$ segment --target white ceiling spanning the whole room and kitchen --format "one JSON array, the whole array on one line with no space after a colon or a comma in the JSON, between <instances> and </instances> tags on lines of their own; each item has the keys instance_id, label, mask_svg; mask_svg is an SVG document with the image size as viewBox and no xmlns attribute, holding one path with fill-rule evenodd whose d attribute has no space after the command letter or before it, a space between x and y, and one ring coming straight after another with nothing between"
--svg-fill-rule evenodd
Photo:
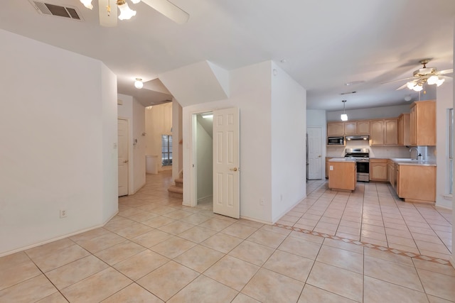
<instances>
[{"instance_id":1,"label":"white ceiling spanning the whole room and kitchen","mask_svg":"<svg viewBox=\"0 0 455 303\"><path fill-rule=\"evenodd\" d=\"M97 0L92 11L44 0L76 7L83 21L41 15L28 0L1 2L0 28L102 60L118 92L144 105L170 98L155 89L158 75L204 60L225 70L274 60L307 89L307 109L328 111L343 109L342 99L346 109L418 99L395 91L405 81L381 83L411 77L424 58L453 68L454 0L171 0L190 14L183 25L130 2L137 16L115 28L99 26ZM154 81L135 89L136 77ZM365 82L345 85L355 81Z\"/></svg>"}]
</instances>

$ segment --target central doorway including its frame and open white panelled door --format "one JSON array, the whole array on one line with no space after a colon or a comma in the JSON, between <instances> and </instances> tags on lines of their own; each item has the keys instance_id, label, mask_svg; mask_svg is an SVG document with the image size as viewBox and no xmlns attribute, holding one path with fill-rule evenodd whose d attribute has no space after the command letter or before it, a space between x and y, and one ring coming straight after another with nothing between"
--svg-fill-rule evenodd
<instances>
[{"instance_id":1,"label":"central doorway including its frame and open white panelled door","mask_svg":"<svg viewBox=\"0 0 455 303\"><path fill-rule=\"evenodd\" d=\"M211 119L211 140L200 133L201 119ZM203 120L202 120L203 121ZM208 120L207 120L208 121ZM238 108L217 109L211 113L196 113L192 116L191 134L191 206L198 204L202 180L206 178L211 187L213 212L240 218L240 112ZM205 123L205 122L203 122ZM208 124L208 123L207 123ZM209 130L210 132L210 130ZM202 144L204 143L204 145ZM199 146L198 146L199 145ZM210 146L211 145L211 146ZM202 146L202 147L201 147ZM212 151L210 154L210 150ZM208 156L210 155L210 157ZM211 163L209 163L209 160ZM211 166L210 166L211 165ZM207 179L205 179L207 180ZM206 186L203 184L202 186Z\"/></svg>"}]
</instances>

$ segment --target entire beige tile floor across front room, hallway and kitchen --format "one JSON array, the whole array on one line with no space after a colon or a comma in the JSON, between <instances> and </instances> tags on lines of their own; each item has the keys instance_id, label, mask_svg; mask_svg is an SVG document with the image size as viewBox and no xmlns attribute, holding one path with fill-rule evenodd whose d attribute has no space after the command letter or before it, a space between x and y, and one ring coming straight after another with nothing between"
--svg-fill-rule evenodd
<instances>
[{"instance_id":1,"label":"entire beige tile floor across front room, hallway and kitchen","mask_svg":"<svg viewBox=\"0 0 455 303\"><path fill-rule=\"evenodd\" d=\"M278 227L182 206L169 172L146 179L104 228L0 258L0 302L455 302L455 270L437 262L447 252L419 243L436 234L449 250L437 232L449 212L402 204L385 184L309 182Z\"/></svg>"}]
</instances>

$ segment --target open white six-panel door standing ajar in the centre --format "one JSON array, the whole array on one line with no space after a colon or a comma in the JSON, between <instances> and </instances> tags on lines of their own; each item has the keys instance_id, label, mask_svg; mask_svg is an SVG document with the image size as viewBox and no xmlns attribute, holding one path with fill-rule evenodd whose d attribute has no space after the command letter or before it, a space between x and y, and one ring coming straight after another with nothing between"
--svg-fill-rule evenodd
<instances>
[{"instance_id":1,"label":"open white six-panel door standing ajar in the centre","mask_svg":"<svg viewBox=\"0 0 455 303\"><path fill-rule=\"evenodd\" d=\"M213 111L213 212L240 218L239 109Z\"/></svg>"}]
</instances>

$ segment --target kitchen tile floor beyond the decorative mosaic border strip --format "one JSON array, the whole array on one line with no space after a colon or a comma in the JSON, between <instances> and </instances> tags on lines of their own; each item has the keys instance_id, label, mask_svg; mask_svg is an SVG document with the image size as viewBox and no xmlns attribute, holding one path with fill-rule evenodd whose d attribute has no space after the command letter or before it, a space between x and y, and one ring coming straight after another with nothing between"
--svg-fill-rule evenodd
<instances>
[{"instance_id":1,"label":"kitchen tile floor beyond the decorative mosaic border strip","mask_svg":"<svg viewBox=\"0 0 455 303\"><path fill-rule=\"evenodd\" d=\"M403 202L389 184L358 182L351 193L332 191L325 180L311 180L307 198L277 226L449 260L451 220L451 210Z\"/></svg>"}]
</instances>

